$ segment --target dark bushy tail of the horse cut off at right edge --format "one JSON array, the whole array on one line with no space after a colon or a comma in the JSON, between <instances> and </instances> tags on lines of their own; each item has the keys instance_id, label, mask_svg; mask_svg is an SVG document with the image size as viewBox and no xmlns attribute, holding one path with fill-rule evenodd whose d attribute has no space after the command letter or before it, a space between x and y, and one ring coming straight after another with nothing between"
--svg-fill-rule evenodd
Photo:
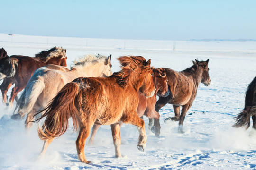
<instances>
[{"instance_id":1,"label":"dark bushy tail of the horse cut off at right edge","mask_svg":"<svg viewBox=\"0 0 256 170\"><path fill-rule=\"evenodd\" d=\"M245 127L246 129L250 127L250 117L256 115L256 107L247 106L241 113L238 114L234 119L236 123L233 127Z\"/></svg>"}]
</instances>

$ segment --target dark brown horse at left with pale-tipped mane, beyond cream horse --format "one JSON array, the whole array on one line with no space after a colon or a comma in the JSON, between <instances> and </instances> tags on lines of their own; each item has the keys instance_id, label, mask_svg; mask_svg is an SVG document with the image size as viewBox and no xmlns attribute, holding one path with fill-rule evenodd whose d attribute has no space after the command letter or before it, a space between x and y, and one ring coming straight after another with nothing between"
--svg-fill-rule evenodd
<instances>
[{"instance_id":1,"label":"dark brown horse at left with pale-tipped mane, beyond cream horse","mask_svg":"<svg viewBox=\"0 0 256 170\"><path fill-rule=\"evenodd\" d=\"M54 47L50 50L41 51L35 57L10 56L11 63L15 66L15 74L11 78L5 78L0 85L3 95L3 102L7 103L7 92L11 85L15 84L11 92L11 97L7 105L12 105L17 94L25 88L28 80L37 68L47 64L67 66L66 50L61 47Z\"/></svg>"}]
</instances>

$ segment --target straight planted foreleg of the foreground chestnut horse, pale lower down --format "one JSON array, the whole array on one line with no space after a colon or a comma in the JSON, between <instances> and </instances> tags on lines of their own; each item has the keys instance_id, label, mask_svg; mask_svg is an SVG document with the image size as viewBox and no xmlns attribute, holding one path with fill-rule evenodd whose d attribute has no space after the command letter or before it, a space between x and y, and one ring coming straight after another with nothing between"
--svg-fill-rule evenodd
<instances>
[{"instance_id":1,"label":"straight planted foreleg of the foreground chestnut horse, pale lower down","mask_svg":"<svg viewBox=\"0 0 256 170\"><path fill-rule=\"evenodd\" d=\"M121 122L111 125L111 131L112 131L113 143L115 146L116 158L122 157L121 150L120 150L120 144L121 144L120 128L121 128L121 125L122 125Z\"/></svg>"}]
</instances>

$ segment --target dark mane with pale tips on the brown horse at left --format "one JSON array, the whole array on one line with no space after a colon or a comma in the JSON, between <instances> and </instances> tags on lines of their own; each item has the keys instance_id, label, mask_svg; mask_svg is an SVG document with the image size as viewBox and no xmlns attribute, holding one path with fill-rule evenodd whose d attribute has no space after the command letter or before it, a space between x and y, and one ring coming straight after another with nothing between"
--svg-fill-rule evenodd
<instances>
[{"instance_id":1,"label":"dark mane with pale tips on the brown horse at left","mask_svg":"<svg viewBox=\"0 0 256 170\"><path fill-rule=\"evenodd\" d=\"M40 59L46 58L46 61L59 56L63 56L62 58L66 57L66 50L64 50L62 47L53 47L50 50L44 50L38 54L35 54L35 57L39 57Z\"/></svg>"}]
</instances>

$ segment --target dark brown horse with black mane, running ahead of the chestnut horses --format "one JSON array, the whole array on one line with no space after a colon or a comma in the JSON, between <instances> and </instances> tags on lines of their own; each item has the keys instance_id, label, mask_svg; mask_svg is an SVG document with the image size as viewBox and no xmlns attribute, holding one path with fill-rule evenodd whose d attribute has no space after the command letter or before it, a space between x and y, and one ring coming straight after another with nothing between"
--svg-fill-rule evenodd
<instances>
[{"instance_id":1,"label":"dark brown horse with black mane, running ahead of the chestnut horses","mask_svg":"<svg viewBox=\"0 0 256 170\"><path fill-rule=\"evenodd\" d=\"M172 118L166 118L165 122L168 120L179 121L179 133L184 133L183 131L183 121L187 111L192 106L192 102L196 98L196 93L198 86L203 83L206 86L210 85L210 76L208 68L209 59L206 61L192 61L193 65L183 71L177 72L170 68L164 68L167 78L170 94L167 97L159 97L159 100L155 104L155 111L159 110L165 106L167 103L172 104L174 108L175 116ZM182 111L180 115L180 107L182 106ZM152 132L156 135L160 135L160 131L155 131L160 125L159 119L149 119L149 124L153 124Z\"/></svg>"}]
</instances>

